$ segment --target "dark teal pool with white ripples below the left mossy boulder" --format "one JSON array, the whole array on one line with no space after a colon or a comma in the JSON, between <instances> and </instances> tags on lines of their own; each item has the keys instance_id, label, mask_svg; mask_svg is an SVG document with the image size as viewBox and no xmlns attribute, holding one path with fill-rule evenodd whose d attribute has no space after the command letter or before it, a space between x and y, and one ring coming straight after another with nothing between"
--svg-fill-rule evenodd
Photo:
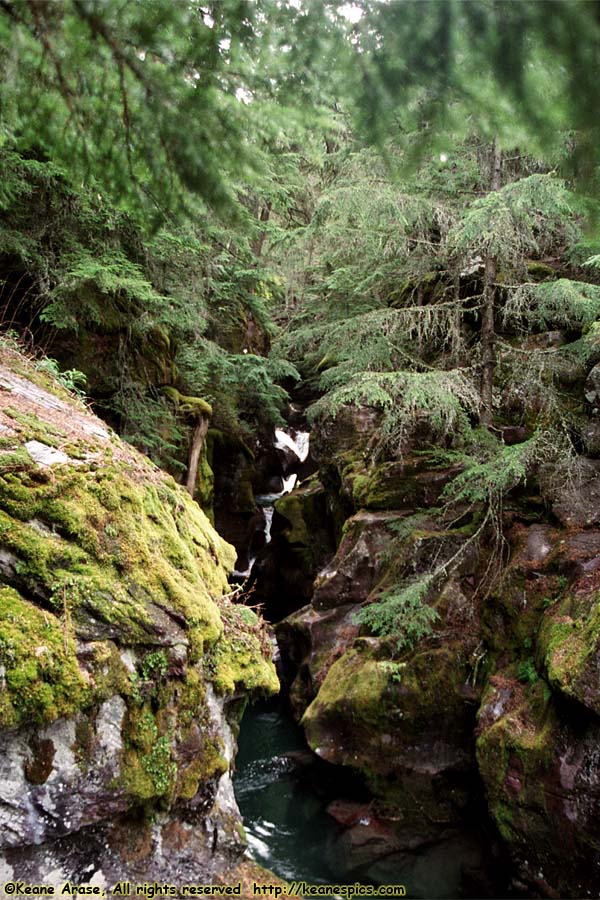
<instances>
[{"instance_id":1,"label":"dark teal pool with white ripples below the left mossy boulder","mask_svg":"<svg viewBox=\"0 0 600 900\"><path fill-rule=\"evenodd\" d=\"M328 768L309 755L302 731L281 701L246 711L235 795L252 858L281 878L312 884L339 880L331 857L341 829L325 811L336 796L335 785L324 776Z\"/></svg>"}]
</instances>

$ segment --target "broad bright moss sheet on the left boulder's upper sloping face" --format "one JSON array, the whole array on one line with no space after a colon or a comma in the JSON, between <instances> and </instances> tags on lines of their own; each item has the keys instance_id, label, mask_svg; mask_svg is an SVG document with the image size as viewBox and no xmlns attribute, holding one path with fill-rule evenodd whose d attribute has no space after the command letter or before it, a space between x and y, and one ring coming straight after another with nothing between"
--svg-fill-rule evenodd
<instances>
[{"instance_id":1,"label":"broad bright moss sheet on the left boulder's upper sloping face","mask_svg":"<svg viewBox=\"0 0 600 900\"><path fill-rule=\"evenodd\" d=\"M187 619L199 658L222 630L212 598L226 588L233 548L174 485L137 484L114 467L84 468L56 467L48 481L29 473L0 477L0 544L16 556L22 583L51 600L68 572L75 621L80 608L85 619L122 623L134 639L150 621L152 598ZM47 532L27 524L32 520Z\"/></svg>"}]
</instances>

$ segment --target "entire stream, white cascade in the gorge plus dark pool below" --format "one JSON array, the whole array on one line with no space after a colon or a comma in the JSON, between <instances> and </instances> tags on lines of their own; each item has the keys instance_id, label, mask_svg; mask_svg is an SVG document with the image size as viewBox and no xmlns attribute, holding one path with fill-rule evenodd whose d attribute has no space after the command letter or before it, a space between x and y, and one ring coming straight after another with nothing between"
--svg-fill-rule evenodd
<instances>
[{"instance_id":1,"label":"entire stream, white cascade in the gorge plus dark pool below","mask_svg":"<svg viewBox=\"0 0 600 900\"><path fill-rule=\"evenodd\" d=\"M262 510L257 530L265 545L271 539L273 505L294 488L293 470L308 454L308 434L291 436L278 429L275 446L291 451L292 461L284 468L282 490L255 496ZM234 576L251 577L259 552L249 553L247 569ZM282 696L246 710L233 783L248 854L280 878L405 884L406 896L430 900L508 896L503 861L477 810L443 840L413 835L399 843L392 823L373 817L360 777L311 753Z\"/></svg>"}]
</instances>

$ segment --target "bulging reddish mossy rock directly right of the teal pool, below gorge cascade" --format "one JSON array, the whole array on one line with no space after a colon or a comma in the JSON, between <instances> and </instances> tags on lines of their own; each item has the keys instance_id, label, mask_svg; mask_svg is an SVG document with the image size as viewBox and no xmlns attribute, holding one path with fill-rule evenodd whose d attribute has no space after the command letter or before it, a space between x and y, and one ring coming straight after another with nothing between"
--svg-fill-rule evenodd
<instances>
[{"instance_id":1,"label":"bulging reddish mossy rock directly right of the teal pool, below gorge cascade","mask_svg":"<svg viewBox=\"0 0 600 900\"><path fill-rule=\"evenodd\" d=\"M471 736L479 689L470 660L481 634L458 582L446 580L430 599L440 615L433 641L399 656L390 638L360 634L361 609L394 578L419 574L432 554L450 558L466 540L425 520L422 531L399 539L405 515L363 510L349 519L315 580L312 603L277 626L292 706L310 746L358 770L373 791L379 831L355 823L343 838L365 872L383 871L392 857L411 871L416 847L460 842L476 778ZM461 569L472 571L468 552Z\"/></svg>"}]
</instances>

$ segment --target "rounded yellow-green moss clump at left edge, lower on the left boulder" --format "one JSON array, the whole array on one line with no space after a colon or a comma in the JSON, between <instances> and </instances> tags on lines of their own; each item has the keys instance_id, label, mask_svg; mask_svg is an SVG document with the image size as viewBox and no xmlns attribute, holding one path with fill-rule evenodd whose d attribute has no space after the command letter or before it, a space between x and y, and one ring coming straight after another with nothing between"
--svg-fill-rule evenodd
<instances>
[{"instance_id":1,"label":"rounded yellow-green moss clump at left edge, lower on the left boulder","mask_svg":"<svg viewBox=\"0 0 600 900\"><path fill-rule=\"evenodd\" d=\"M68 623L0 587L0 724L50 722L89 705Z\"/></svg>"}]
</instances>

